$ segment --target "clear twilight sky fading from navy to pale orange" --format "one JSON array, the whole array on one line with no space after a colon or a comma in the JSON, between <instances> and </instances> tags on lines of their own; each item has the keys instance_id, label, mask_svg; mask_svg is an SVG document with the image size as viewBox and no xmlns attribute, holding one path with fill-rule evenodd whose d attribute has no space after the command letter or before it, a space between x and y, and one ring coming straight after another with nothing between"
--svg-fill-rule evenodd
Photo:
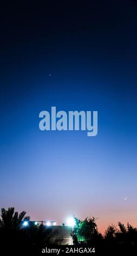
<instances>
[{"instance_id":1,"label":"clear twilight sky fading from navy to pale orange","mask_svg":"<svg viewBox=\"0 0 137 256\"><path fill-rule=\"evenodd\" d=\"M136 12L135 1L1 7L1 208L137 225ZM40 131L51 106L98 111L98 135Z\"/></svg>"}]
</instances>

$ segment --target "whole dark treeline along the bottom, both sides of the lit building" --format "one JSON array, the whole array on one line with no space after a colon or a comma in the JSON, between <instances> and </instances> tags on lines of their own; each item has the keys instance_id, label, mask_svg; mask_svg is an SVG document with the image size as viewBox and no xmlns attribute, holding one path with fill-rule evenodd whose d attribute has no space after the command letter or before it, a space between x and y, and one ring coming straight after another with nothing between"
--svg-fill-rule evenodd
<instances>
[{"instance_id":1,"label":"whole dark treeline along the bottom, both sides of the lit building","mask_svg":"<svg viewBox=\"0 0 137 256\"><path fill-rule=\"evenodd\" d=\"M0 219L0 254L8 253L33 253L41 254L42 248L57 247L57 241L53 240L55 233L51 228L43 224L34 225L26 212L15 212L14 208L1 209ZM75 218L75 226L72 229L74 247L95 247L95 252L103 255L136 255L137 253L137 228L129 223L125 226L121 222L117 226L109 225L101 234L94 217L81 221ZM28 227L24 227L24 221L29 221ZM53 242L54 241L54 242ZM20 253L20 254L19 254ZM5 255L1 254L1 255ZM10 255L9 254L9 255ZM96 254L95 254L96 255ZM101 254L100 254L101 255Z\"/></svg>"}]
</instances>

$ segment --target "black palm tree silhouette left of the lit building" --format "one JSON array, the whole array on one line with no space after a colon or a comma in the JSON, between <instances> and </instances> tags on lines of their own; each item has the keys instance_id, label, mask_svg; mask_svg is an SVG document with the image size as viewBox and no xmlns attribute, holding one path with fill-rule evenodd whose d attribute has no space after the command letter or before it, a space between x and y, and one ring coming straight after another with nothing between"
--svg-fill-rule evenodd
<instances>
[{"instance_id":1,"label":"black palm tree silhouette left of the lit building","mask_svg":"<svg viewBox=\"0 0 137 256\"><path fill-rule=\"evenodd\" d=\"M15 212L13 207L5 210L1 209L0 219L0 241L1 248L5 249L8 245L10 252L18 252L22 249L22 252L39 252L40 248L43 248L45 244L51 245L53 242L54 234L51 229L41 225L34 225L34 222L30 221L30 217L25 216L26 212L22 211L20 214ZM23 222L29 221L27 227L23 227Z\"/></svg>"}]
</instances>

